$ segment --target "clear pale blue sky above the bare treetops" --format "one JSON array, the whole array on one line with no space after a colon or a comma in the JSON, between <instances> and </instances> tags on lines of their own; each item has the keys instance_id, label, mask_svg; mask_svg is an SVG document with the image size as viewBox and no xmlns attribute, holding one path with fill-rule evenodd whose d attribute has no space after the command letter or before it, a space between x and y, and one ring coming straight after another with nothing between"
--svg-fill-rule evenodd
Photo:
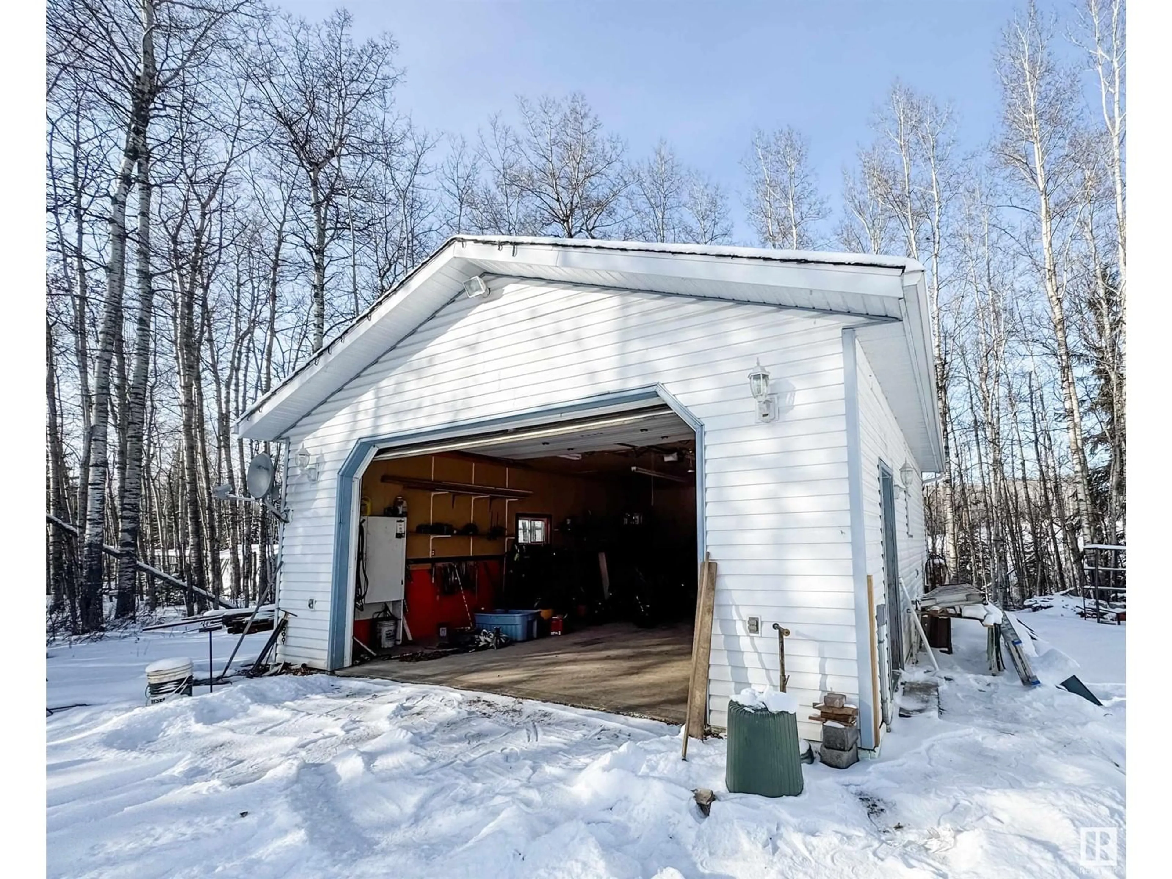
<instances>
[{"instance_id":1,"label":"clear pale blue sky above the bare treetops","mask_svg":"<svg viewBox=\"0 0 1172 879\"><path fill-rule=\"evenodd\" d=\"M356 0L359 35L390 32L407 70L398 104L429 129L463 132L515 96L585 93L632 154L660 137L723 183L741 222L738 162L755 127L796 125L819 184L838 206L840 170L870 139L868 117L898 76L952 101L961 136L979 148L994 130L993 49L1022 2L554 2ZM321 18L320 0L285 8ZM1040 4L1061 12L1061 0Z\"/></svg>"}]
</instances>

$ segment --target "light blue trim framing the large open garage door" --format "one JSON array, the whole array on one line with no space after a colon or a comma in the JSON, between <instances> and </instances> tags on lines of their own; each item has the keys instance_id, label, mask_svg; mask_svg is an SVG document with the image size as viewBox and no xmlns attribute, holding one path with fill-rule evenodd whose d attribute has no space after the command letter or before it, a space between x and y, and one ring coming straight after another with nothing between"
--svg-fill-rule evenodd
<instances>
[{"instance_id":1,"label":"light blue trim framing the large open garage door","mask_svg":"<svg viewBox=\"0 0 1172 879\"><path fill-rule=\"evenodd\" d=\"M441 428L429 430L404 431L401 434L381 434L359 440L350 454L346 456L338 471L338 491L334 502L334 564L332 566L332 585L329 600L329 646L327 649L327 668L334 672L346 666L346 648L349 641L349 587L350 559L353 558L353 531L359 513L360 483L362 472L380 448L387 445L407 445L457 437L471 437L477 434L490 434L495 430L520 427L525 423L534 425L568 420L587 413L613 409L638 409L639 403L661 401L668 406L696 434L696 550L699 561L704 557L704 425L662 384L652 384L631 390L600 394L553 407L525 409L511 415L482 418L465 422L452 422ZM422 452L421 452L422 454Z\"/></svg>"}]
</instances>

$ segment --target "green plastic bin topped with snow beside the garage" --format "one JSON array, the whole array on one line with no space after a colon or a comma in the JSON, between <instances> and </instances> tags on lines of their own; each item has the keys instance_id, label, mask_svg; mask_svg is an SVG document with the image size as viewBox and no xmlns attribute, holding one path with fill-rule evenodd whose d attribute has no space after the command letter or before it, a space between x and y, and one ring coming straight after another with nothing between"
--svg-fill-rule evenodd
<instances>
[{"instance_id":1,"label":"green plastic bin topped with snow beside the garage","mask_svg":"<svg viewBox=\"0 0 1172 879\"><path fill-rule=\"evenodd\" d=\"M796 797L803 790L798 700L747 688L729 700L724 785L731 793Z\"/></svg>"}]
</instances>

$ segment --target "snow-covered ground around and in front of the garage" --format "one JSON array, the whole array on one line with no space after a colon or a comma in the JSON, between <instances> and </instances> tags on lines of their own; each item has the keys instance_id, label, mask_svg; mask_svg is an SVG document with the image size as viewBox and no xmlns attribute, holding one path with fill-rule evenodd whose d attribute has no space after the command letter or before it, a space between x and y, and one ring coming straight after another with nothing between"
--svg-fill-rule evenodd
<instances>
[{"instance_id":1,"label":"snow-covered ground around and in front of the garage","mask_svg":"<svg viewBox=\"0 0 1172 879\"><path fill-rule=\"evenodd\" d=\"M327 675L146 708L143 667L206 662L206 636L54 646L49 707L89 707L47 720L48 874L1086 875L1078 829L1124 820L1126 626L1067 609L1020 619L1103 708L988 676L984 631L960 620L940 716L898 720L878 761L805 766L805 792L776 800L725 791L722 740L684 763L679 728L652 721ZM1122 856L1120 833L1117 870L1091 874L1122 875Z\"/></svg>"}]
</instances>

